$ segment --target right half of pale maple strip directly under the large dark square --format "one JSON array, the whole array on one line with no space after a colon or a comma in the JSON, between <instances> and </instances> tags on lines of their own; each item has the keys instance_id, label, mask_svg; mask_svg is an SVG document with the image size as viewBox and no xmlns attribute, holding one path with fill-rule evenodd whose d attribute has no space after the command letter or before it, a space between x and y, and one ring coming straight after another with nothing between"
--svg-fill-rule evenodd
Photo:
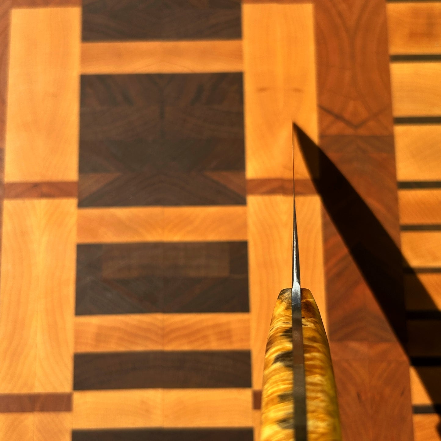
<instances>
[{"instance_id":1,"label":"right half of pale maple strip directly under the large dark square","mask_svg":"<svg viewBox=\"0 0 441 441\"><path fill-rule=\"evenodd\" d=\"M166 242L247 240L247 207L164 207L163 239Z\"/></svg>"}]
</instances>

